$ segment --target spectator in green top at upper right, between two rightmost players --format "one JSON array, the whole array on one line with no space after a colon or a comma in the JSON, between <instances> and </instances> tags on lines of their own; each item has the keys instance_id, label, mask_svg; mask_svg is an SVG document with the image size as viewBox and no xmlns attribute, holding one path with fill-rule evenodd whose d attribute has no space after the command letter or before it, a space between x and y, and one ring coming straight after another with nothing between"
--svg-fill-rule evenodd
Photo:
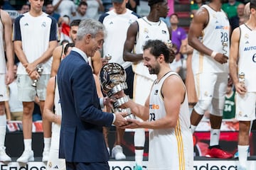
<instances>
[{"instance_id":1,"label":"spectator in green top at upper right, between two rightmost players","mask_svg":"<svg viewBox=\"0 0 256 170\"><path fill-rule=\"evenodd\" d=\"M238 15L237 8L239 4L241 4L240 1L228 0L228 2L224 3L221 8L227 13L228 18L230 19L231 17Z\"/></svg>"}]
</instances>

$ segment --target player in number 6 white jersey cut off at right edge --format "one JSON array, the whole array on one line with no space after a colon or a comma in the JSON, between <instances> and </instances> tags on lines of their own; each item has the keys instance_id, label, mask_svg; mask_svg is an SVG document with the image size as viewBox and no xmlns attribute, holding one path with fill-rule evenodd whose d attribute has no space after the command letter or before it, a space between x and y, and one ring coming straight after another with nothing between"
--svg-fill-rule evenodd
<instances>
[{"instance_id":1,"label":"player in number 6 white jersey cut off at right edge","mask_svg":"<svg viewBox=\"0 0 256 170\"><path fill-rule=\"evenodd\" d=\"M230 46L230 76L236 90L235 118L239 120L238 170L247 167L247 152L250 145L250 128L255 120L256 103L256 0L250 1L250 18L235 28ZM245 74L244 81L238 77Z\"/></svg>"}]
</instances>

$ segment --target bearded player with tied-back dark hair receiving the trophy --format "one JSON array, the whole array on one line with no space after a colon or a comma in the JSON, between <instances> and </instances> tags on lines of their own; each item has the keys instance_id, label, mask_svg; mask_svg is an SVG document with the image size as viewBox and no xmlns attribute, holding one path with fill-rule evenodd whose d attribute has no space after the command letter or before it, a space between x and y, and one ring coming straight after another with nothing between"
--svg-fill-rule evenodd
<instances>
[{"instance_id":1,"label":"bearded player with tied-back dark hair receiving the trophy","mask_svg":"<svg viewBox=\"0 0 256 170\"><path fill-rule=\"evenodd\" d=\"M144 105L129 100L125 108L144 121L128 119L124 128L149 129L149 162L147 169L193 169L193 139L186 87L169 62L174 52L161 40L148 40L143 47L144 65L156 80ZM120 93L117 98L124 96ZM147 121L149 120L149 121Z\"/></svg>"}]
</instances>

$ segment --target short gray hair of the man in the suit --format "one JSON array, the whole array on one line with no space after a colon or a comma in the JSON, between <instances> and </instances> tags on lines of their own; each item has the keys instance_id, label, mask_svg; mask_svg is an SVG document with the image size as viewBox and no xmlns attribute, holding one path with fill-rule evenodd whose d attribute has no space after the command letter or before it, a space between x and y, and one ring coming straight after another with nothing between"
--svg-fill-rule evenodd
<instances>
[{"instance_id":1,"label":"short gray hair of the man in the suit","mask_svg":"<svg viewBox=\"0 0 256 170\"><path fill-rule=\"evenodd\" d=\"M106 35L105 26L103 26L102 23L93 19L82 20L78 26L77 39L82 40L87 34L90 34L92 35L92 38L95 38L97 33L100 32Z\"/></svg>"}]
</instances>

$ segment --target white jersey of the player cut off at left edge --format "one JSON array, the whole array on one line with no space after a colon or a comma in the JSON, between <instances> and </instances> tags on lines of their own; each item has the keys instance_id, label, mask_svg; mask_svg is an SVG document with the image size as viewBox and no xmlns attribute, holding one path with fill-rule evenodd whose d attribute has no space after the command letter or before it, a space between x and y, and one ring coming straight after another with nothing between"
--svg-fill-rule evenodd
<instances>
[{"instance_id":1,"label":"white jersey of the player cut off at left edge","mask_svg":"<svg viewBox=\"0 0 256 170\"><path fill-rule=\"evenodd\" d=\"M4 26L0 19L0 74L1 73L6 73L6 60L4 55Z\"/></svg>"}]
</instances>

